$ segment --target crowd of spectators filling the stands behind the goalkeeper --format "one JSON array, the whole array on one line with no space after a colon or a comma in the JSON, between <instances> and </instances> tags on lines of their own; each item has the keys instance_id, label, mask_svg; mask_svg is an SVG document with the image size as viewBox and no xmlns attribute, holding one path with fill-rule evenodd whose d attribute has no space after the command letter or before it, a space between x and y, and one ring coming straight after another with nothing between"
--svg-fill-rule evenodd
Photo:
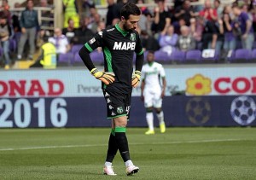
<instances>
[{"instance_id":1,"label":"crowd of spectators filling the stands behind the goalkeeper","mask_svg":"<svg viewBox=\"0 0 256 180\"><path fill-rule=\"evenodd\" d=\"M143 13L137 31L145 51L161 50L171 55L175 50L214 49L225 57L231 50L254 48L255 0L236 0L228 5L219 0L205 0L199 5L191 5L197 0L173 0L173 6L166 5L165 0L155 0L154 8L144 6L143 0L131 1L137 3ZM53 26L53 22L43 20L39 25L37 11L33 9L34 6L49 7L52 2L41 0L40 4L34 4L28 0L21 15L9 11L7 0L2 2L0 66L9 69L12 61L33 60L35 51L45 43L45 36L55 45L57 55L69 52L74 44L84 44L96 32L119 21L119 10L127 0L107 0L107 15L104 17L92 0L83 0L80 8L79 0L62 0L63 28L55 27L53 32L40 28ZM15 3L15 8L19 7L20 4ZM43 12L43 15L53 17L50 11ZM15 55L11 57L9 39L15 39L17 44Z\"/></svg>"}]
</instances>

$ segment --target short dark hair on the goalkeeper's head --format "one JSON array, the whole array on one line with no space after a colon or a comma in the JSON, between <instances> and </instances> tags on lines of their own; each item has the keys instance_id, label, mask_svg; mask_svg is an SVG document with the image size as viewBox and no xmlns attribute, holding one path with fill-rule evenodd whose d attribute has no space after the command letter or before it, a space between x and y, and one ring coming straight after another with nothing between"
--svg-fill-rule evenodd
<instances>
[{"instance_id":1,"label":"short dark hair on the goalkeeper's head","mask_svg":"<svg viewBox=\"0 0 256 180\"><path fill-rule=\"evenodd\" d=\"M129 19L130 15L141 15L141 10L137 7L135 3L125 3L120 11L120 15L124 16L125 20Z\"/></svg>"}]
</instances>

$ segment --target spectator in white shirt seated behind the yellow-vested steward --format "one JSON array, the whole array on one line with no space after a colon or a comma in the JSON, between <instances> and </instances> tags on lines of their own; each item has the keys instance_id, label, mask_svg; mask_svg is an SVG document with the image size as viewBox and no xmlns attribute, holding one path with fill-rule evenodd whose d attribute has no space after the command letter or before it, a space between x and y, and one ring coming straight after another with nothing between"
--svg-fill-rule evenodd
<instances>
[{"instance_id":1,"label":"spectator in white shirt seated behind the yellow-vested steward","mask_svg":"<svg viewBox=\"0 0 256 180\"><path fill-rule=\"evenodd\" d=\"M61 28L58 27L55 28L54 37L49 38L49 43L55 45L57 55L66 54L71 49L67 37L64 34L62 34Z\"/></svg>"}]
</instances>

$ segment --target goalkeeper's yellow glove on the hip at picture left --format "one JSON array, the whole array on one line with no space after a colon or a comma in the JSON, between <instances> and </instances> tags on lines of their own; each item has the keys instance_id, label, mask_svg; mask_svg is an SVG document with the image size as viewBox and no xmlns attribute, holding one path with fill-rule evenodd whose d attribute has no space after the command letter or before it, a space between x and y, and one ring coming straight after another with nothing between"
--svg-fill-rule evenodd
<instances>
[{"instance_id":1,"label":"goalkeeper's yellow glove on the hip at picture left","mask_svg":"<svg viewBox=\"0 0 256 180\"><path fill-rule=\"evenodd\" d=\"M93 68L90 71L91 75L95 78L101 80L104 84L112 84L114 81L114 73L113 72L99 72L96 68Z\"/></svg>"}]
</instances>

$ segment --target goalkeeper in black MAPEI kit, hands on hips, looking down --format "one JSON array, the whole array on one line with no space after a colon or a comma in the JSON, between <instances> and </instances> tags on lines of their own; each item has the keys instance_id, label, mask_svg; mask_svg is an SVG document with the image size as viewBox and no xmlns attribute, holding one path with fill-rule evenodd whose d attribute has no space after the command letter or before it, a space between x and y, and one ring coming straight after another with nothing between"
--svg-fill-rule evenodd
<instances>
[{"instance_id":1,"label":"goalkeeper in black MAPEI kit, hands on hips, looking down","mask_svg":"<svg viewBox=\"0 0 256 180\"><path fill-rule=\"evenodd\" d=\"M103 173L116 175L113 171L113 158L117 151L124 160L126 174L139 171L133 165L126 138L126 125L131 108L131 91L137 87L143 67L143 46L137 31L141 11L134 3L126 3L120 11L120 20L115 26L98 32L79 50L84 65L95 78L102 81L102 91L107 102L108 119L112 130L108 140L108 152ZM104 70L96 69L90 59L90 52L102 47ZM136 55L133 73L133 55Z\"/></svg>"}]
</instances>

